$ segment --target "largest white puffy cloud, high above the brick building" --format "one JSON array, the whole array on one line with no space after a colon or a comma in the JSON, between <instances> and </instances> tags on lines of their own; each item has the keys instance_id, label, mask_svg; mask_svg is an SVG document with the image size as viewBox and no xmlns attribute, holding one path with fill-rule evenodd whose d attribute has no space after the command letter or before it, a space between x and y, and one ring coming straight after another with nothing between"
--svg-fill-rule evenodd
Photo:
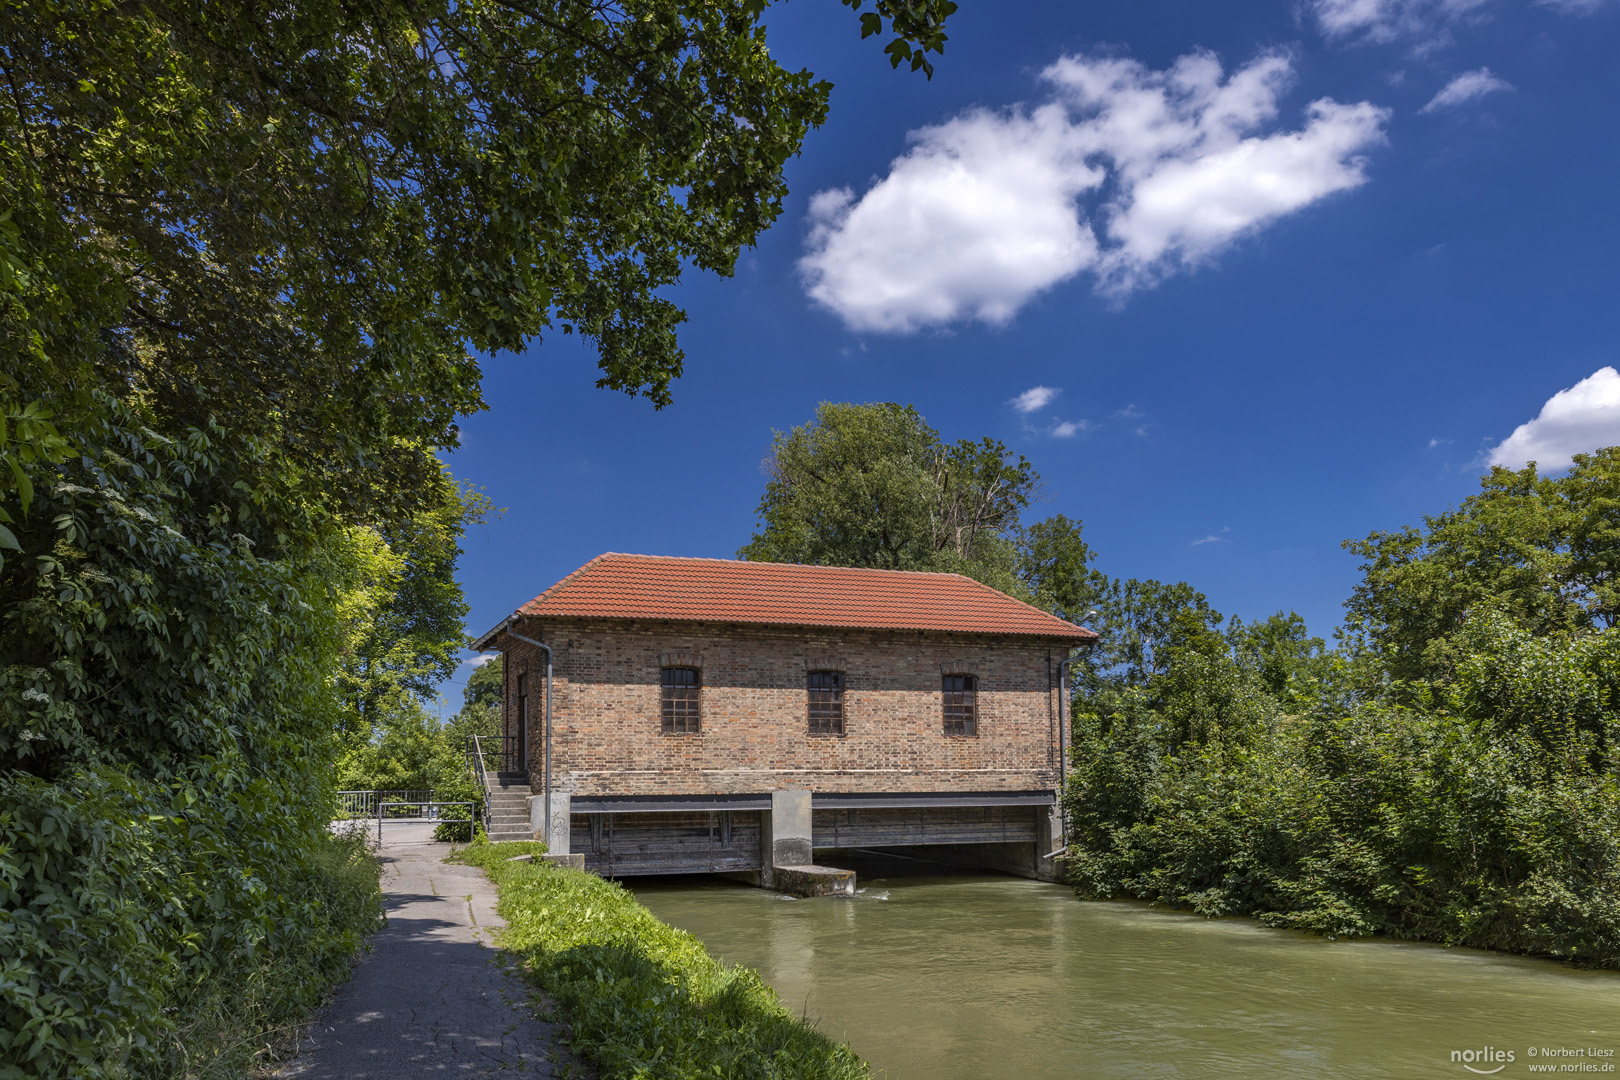
<instances>
[{"instance_id":1,"label":"largest white puffy cloud, high above the brick building","mask_svg":"<svg viewBox=\"0 0 1620 1080\"><path fill-rule=\"evenodd\" d=\"M1388 112L1322 99L1275 130L1288 55L1230 76L1209 52L1165 71L1063 57L1051 100L974 110L910 134L889 173L810 202L810 296L854 330L1004 324L1084 270L1123 298L1366 180Z\"/></svg>"}]
</instances>

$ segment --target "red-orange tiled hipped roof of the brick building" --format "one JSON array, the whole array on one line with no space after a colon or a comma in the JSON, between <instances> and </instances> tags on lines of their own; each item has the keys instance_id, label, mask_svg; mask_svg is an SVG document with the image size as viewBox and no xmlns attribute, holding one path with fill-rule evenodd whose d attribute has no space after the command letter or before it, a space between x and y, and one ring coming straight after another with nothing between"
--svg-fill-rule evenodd
<instances>
[{"instance_id":1,"label":"red-orange tiled hipped roof of the brick building","mask_svg":"<svg viewBox=\"0 0 1620 1080\"><path fill-rule=\"evenodd\" d=\"M591 559L518 614L1097 636L959 573L616 552Z\"/></svg>"}]
</instances>

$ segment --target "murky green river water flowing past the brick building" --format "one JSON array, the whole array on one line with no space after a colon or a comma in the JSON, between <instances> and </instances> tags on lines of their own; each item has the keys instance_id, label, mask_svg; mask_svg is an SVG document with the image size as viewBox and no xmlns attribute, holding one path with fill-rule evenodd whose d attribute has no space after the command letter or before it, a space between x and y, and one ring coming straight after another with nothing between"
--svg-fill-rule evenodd
<instances>
[{"instance_id":1,"label":"murky green river water flowing past the brick building","mask_svg":"<svg viewBox=\"0 0 1620 1080\"><path fill-rule=\"evenodd\" d=\"M1452 1051L1486 1046L1515 1056L1498 1077L1547 1075L1531 1065L1549 1061L1584 1062L1554 1075L1620 1077L1617 973L893 868L854 899L629 884L891 1080L1468 1077ZM1545 1057L1557 1048L1617 1056Z\"/></svg>"}]
</instances>

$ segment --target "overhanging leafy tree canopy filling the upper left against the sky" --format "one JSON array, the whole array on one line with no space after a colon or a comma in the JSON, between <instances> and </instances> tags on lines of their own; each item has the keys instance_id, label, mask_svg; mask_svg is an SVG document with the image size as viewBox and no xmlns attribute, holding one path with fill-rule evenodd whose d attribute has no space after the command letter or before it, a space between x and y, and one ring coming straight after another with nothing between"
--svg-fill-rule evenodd
<instances>
[{"instance_id":1,"label":"overhanging leafy tree canopy filling the upper left against the sky","mask_svg":"<svg viewBox=\"0 0 1620 1080\"><path fill-rule=\"evenodd\" d=\"M731 274L826 115L765 6L6 5L6 282L63 374L180 423L228 408L311 474L431 471L480 405L473 356L559 325L599 385L667 403L663 293ZM880 0L891 60L932 71L953 8ZM115 325L138 358L102 355Z\"/></svg>"}]
</instances>

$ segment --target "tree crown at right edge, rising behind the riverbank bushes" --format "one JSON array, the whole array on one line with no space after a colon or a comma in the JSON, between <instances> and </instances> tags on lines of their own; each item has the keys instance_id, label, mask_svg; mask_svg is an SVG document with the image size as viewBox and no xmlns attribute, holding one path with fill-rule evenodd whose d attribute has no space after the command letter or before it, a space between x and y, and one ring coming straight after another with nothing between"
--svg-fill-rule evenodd
<instances>
[{"instance_id":1,"label":"tree crown at right edge, rising behind the riverbank bushes","mask_svg":"<svg viewBox=\"0 0 1620 1080\"><path fill-rule=\"evenodd\" d=\"M1533 633L1620 622L1620 447L1581 453L1567 476L1494 468L1422 528L1345 541L1362 580L1346 635L1396 682L1445 682L1453 635L1482 602Z\"/></svg>"}]
</instances>

